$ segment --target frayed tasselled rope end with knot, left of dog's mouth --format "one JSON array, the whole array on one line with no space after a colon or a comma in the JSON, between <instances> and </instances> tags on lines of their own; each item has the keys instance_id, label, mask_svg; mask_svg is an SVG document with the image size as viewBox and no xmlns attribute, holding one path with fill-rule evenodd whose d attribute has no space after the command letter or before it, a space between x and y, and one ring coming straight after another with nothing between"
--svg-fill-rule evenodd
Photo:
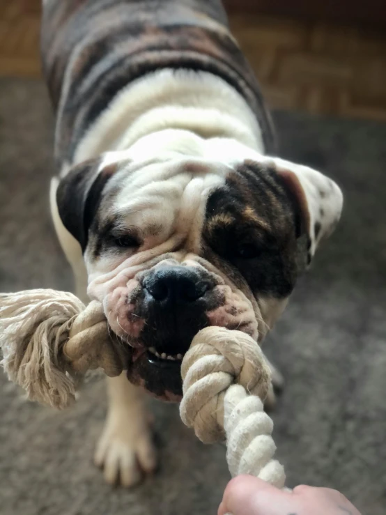
<instances>
[{"instance_id":1,"label":"frayed tasselled rope end with knot, left of dog's mouth","mask_svg":"<svg viewBox=\"0 0 386 515\"><path fill-rule=\"evenodd\" d=\"M88 369L121 374L99 302L87 307L72 293L29 290L0 294L0 348L8 378L28 399L63 409L75 401Z\"/></svg>"}]
</instances>

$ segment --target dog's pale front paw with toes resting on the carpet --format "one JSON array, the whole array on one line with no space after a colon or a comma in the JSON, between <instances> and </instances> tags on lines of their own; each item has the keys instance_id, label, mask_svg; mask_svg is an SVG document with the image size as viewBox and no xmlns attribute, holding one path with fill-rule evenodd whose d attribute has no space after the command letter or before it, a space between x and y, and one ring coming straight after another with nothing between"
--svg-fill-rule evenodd
<instances>
[{"instance_id":1,"label":"dog's pale front paw with toes resting on the carpet","mask_svg":"<svg viewBox=\"0 0 386 515\"><path fill-rule=\"evenodd\" d=\"M154 472L157 455L146 422L137 424L109 416L95 449L95 465L103 468L107 483L129 488Z\"/></svg>"}]
</instances>

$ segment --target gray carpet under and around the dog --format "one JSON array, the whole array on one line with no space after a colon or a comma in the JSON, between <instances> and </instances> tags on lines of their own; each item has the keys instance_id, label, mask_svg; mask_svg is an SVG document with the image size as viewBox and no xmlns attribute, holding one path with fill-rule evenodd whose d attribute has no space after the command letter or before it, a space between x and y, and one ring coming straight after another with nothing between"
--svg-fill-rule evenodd
<instances>
[{"instance_id":1,"label":"gray carpet under and around the dog","mask_svg":"<svg viewBox=\"0 0 386 515\"><path fill-rule=\"evenodd\" d=\"M286 376L273 414L288 484L331 486L386 513L386 125L277 113L283 155L343 187L339 229L267 341ZM0 82L0 291L70 288L49 221L52 116L42 84ZM25 403L0 374L1 515L215 514L224 449L201 445L176 406L154 403L161 468L132 491L91 463L102 384L65 413ZM310 514L311 515L311 514ZM327 514L326 514L327 515Z\"/></svg>"}]
</instances>

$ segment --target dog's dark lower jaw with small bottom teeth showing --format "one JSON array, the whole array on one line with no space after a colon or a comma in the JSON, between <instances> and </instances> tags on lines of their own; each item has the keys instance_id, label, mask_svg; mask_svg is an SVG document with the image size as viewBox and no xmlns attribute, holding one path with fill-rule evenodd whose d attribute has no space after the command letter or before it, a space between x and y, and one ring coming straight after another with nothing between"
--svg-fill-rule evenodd
<instances>
[{"instance_id":1,"label":"dog's dark lower jaw with small bottom teeth showing","mask_svg":"<svg viewBox=\"0 0 386 515\"><path fill-rule=\"evenodd\" d=\"M154 347L134 348L128 360L128 380L157 399L179 402L183 396L183 356L182 353L160 353Z\"/></svg>"}]
</instances>

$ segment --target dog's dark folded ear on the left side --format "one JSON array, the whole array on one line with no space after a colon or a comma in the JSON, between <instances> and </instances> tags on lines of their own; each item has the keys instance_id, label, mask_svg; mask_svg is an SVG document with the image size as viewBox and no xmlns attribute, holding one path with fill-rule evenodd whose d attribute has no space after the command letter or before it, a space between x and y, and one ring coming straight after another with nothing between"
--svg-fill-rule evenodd
<instances>
[{"instance_id":1,"label":"dog's dark folded ear on the left side","mask_svg":"<svg viewBox=\"0 0 386 515\"><path fill-rule=\"evenodd\" d=\"M103 189L117 169L116 164L102 164L100 157L84 161L70 169L56 190L61 221L85 251L88 229L102 199Z\"/></svg>"}]
</instances>

